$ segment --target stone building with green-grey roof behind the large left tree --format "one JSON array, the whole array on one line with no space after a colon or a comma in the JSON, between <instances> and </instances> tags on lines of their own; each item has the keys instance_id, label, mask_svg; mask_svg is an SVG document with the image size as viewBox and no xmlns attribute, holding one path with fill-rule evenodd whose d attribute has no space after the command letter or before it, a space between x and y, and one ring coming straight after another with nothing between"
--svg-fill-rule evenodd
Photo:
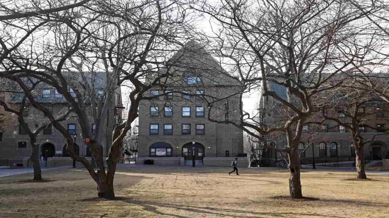
<instances>
[{"instance_id":1,"label":"stone building with green-grey roof behind the large left tree","mask_svg":"<svg viewBox=\"0 0 389 218\"><path fill-rule=\"evenodd\" d=\"M97 95L102 94L105 89L105 78L104 73L97 73L97 78L95 80ZM70 94L75 97L75 93L72 92L71 88ZM54 116L63 114L69 107L66 99L64 99L60 93L56 92L53 87L41 85L37 88L37 93L35 95L36 100L41 104L44 104L45 107L52 111ZM19 110L23 95L5 92L0 93L0 98L4 99L8 106L12 109ZM88 98L85 98L84 102L88 103ZM105 129L103 129L101 143L104 149L103 154L105 156L108 155L108 146L112 142L112 130L116 125L117 119L120 119L119 117L121 116L122 107L121 91L120 87L118 87L116 89L116 99L114 100L112 107L109 108L109 116L105 121ZM32 146L29 143L30 138L19 125L18 117L15 114L6 112L3 107L0 107L0 116L2 116L0 123L0 159L3 159L3 162L4 159L9 159L12 163L22 163L23 159L30 157L32 154ZM44 116L43 112L40 112L33 106L26 107L23 112L23 116L32 131L35 131L38 127L44 124L50 123ZM91 156L89 149L87 149L86 144L82 141L77 116L71 113L68 119L61 122L61 124L68 129L68 132L71 135L74 135L76 152L81 156ZM94 128L93 124L91 126ZM40 156L48 158L68 157L65 149L65 138L58 130L52 128L51 125L39 133L37 136L37 143L39 143ZM68 157L68 159L70 160L70 157ZM71 163L71 161L67 161L67 163Z\"/></svg>"}]
</instances>

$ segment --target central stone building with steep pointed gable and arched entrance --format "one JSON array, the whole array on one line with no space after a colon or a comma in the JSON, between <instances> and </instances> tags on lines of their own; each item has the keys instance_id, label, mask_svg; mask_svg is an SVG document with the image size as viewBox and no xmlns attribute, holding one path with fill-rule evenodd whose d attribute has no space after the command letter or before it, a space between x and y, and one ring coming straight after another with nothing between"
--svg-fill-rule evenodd
<instances>
[{"instance_id":1,"label":"central stone building with steep pointed gable and arched entrance","mask_svg":"<svg viewBox=\"0 0 389 218\"><path fill-rule=\"evenodd\" d=\"M155 164L230 165L231 157L242 157L243 133L237 127L208 119L204 99L237 92L238 83L198 43L191 41L170 60L175 75L166 88L154 88L139 107L137 163L154 159ZM223 72L223 73L221 73ZM153 75L149 75L151 81ZM221 103L223 119L238 119L237 102ZM194 151L194 152L193 152Z\"/></svg>"}]
</instances>

